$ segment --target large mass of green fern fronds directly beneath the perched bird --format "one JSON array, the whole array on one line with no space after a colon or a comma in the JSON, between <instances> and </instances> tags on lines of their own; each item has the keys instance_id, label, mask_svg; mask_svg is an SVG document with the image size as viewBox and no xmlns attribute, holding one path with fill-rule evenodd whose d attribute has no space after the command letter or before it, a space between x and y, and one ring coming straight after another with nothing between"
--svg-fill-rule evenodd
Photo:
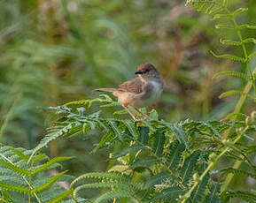
<instances>
[{"instance_id":1,"label":"large mass of green fern fronds directly beneath the perched bird","mask_svg":"<svg viewBox=\"0 0 256 203\"><path fill-rule=\"evenodd\" d=\"M101 108L112 106L112 100L105 95L92 100L91 104L96 101ZM156 119L135 122L101 117L99 111L90 112L92 105L88 103L83 110L81 102L50 108L59 115L49 129L50 136L58 139L99 130L103 135L93 152L107 147L110 153L112 164L107 172L87 173L74 180L71 184L74 200L84 198L81 191L100 188L102 194L91 201L185 202L190 199L192 202L221 202L221 184L210 178L210 171L221 156L231 160L242 156L244 164L252 171L223 169L219 172L221 178L238 172L256 176L248 157L255 146L248 147L240 141L250 138L256 131L253 115L229 122L186 120L172 124ZM232 133L227 140L222 139L229 131ZM50 136L35 147L33 154L47 146ZM218 147L211 147L214 145ZM115 151L115 147L121 149Z\"/></svg>"}]
</instances>

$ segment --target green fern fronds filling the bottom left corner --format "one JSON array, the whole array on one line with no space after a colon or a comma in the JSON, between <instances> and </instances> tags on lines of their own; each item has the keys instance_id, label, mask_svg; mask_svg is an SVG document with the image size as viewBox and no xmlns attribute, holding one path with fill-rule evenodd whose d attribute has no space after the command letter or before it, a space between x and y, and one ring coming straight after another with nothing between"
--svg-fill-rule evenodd
<instances>
[{"instance_id":1,"label":"green fern fronds filling the bottom left corner","mask_svg":"<svg viewBox=\"0 0 256 203\"><path fill-rule=\"evenodd\" d=\"M71 181L66 171L56 176L45 173L58 169L59 162L73 157L57 157L47 161L45 154L36 154L29 160L31 150L0 147L0 188L2 198L8 202L59 202L66 199L70 191L58 185L58 181ZM44 162L44 163L43 163ZM8 195L7 195L8 194Z\"/></svg>"}]
</instances>

